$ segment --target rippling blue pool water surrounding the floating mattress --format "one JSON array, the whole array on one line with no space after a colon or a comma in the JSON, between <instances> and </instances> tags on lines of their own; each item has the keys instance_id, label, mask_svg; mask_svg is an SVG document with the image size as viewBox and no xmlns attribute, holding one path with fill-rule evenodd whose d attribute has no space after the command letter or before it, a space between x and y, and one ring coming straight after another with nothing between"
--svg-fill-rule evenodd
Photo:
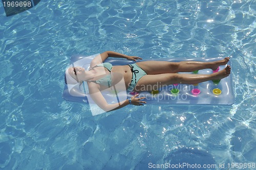
<instances>
[{"instance_id":1,"label":"rippling blue pool water surrounding the floating mattress","mask_svg":"<svg viewBox=\"0 0 256 170\"><path fill-rule=\"evenodd\" d=\"M6 17L1 3L0 169L255 169L255 11L252 0L44 0ZM107 50L145 59L228 56L236 102L92 116L89 105L62 99L63 75L72 55Z\"/></svg>"}]
</instances>

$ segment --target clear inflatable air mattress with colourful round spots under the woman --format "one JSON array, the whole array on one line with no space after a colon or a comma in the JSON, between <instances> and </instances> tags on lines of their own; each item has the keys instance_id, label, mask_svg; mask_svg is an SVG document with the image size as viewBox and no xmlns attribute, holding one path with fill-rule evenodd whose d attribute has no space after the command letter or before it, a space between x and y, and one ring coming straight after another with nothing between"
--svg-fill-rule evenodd
<instances>
[{"instance_id":1,"label":"clear inflatable air mattress with colourful round spots under the woman","mask_svg":"<svg viewBox=\"0 0 256 170\"><path fill-rule=\"evenodd\" d=\"M92 59L97 56L81 56L76 55L71 57L71 65L80 66L89 69L90 63ZM222 58L211 58L211 59L155 59L160 61L216 61ZM143 59L141 61L148 61L147 59ZM134 61L126 60L126 59L107 59L105 62L110 62L115 65L126 65L132 64ZM231 66L231 62L229 61L227 65ZM226 65L220 66L220 70L224 69ZM185 72L190 74L211 74L211 69L203 69L194 72ZM182 73L179 73L182 74ZM136 92L126 92L125 94L120 94L115 97L114 93L106 94L105 98L108 103L115 103L116 101L126 100L127 98L131 98L131 96L135 95ZM76 85L67 85L65 84L65 88L63 90L63 98L67 101L73 102L81 102L81 103L90 103L88 96L89 90L86 82L82 84ZM114 96L114 98L113 98ZM139 93L138 97L145 97L144 101L147 104L209 104L209 105L232 105L234 103L234 92L232 85L232 76L231 74L222 79L220 82L218 81L207 81L195 85L187 85L187 84L172 84L169 86L165 86L161 89L155 91L143 91ZM119 98L116 100L116 98ZM115 99L115 100L113 100Z\"/></svg>"}]
</instances>

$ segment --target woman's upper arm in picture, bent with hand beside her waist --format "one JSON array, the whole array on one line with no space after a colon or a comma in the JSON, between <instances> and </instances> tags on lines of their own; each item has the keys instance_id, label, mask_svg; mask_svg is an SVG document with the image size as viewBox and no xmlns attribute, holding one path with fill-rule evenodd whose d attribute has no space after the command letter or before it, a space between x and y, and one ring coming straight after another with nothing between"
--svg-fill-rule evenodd
<instances>
[{"instance_id":1,"label":"woman's upper arm in picture, bent with hand beside her waist","mask_svg":"<svg viewBox=\"0 0 256 170\"><path fill-rule=\"evenodd\" d=\"M113 51L106 51L106 52L101 53L100 55L96 56L92 60L91 67L93 67L97 64L103 63L109 57L124 58L124 59L128 59L128 60L133 60L133 61L137 61L136 59L142 59L142 58L136 57L136 56L127 56L125 54L121 54L121 53L117 53L117 52L113 52Z\"/></svg>"}]
</instances>

